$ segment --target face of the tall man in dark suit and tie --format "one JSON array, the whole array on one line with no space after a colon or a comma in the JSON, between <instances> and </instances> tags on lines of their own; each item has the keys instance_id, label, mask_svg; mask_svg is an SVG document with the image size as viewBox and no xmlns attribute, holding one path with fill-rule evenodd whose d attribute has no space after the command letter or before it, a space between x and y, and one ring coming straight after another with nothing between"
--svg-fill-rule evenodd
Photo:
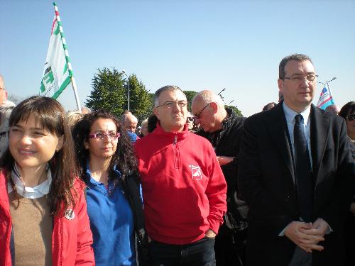
<instances>
[{"instance_id":1,"label":"face of the tall man in dark suit and tie","mask_svg":"<svg viewBox=\"0 0 355 266\"><path fill-rule=\"evenodd\" d=\"M308 60L290 60L285 65L285 77L305 77L315 74L315 67ZM304 111L310 106L317 87L317 79L308 81L306 78L299 79L278 79L278 87L283 94L285 104L294 111Z\"/></svg>"}]
</instances>

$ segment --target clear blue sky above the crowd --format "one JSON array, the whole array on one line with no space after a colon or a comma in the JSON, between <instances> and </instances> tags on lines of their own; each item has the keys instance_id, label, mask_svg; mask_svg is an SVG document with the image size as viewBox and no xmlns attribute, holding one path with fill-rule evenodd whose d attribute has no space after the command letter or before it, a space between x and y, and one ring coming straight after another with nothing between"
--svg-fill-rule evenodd
<instances>
[{"instance_id":1,"label":"clear blue sky above the crowd","mask_svg":"<svg viewBox=\"0 0 355 266\"><path fill-rule=\"evenodd\" d=\"M82 104L97 68L134 73L147 89L210 89L250 116L278 101L278 64L312 57L339 106L355 100L355 1L56 1ZM52 1L0 0L0 73L9 94L38 94ZM317 103L322 85L317 87ZM68 88L58 98L75 109Z\"/></svg>"}]
</instances>

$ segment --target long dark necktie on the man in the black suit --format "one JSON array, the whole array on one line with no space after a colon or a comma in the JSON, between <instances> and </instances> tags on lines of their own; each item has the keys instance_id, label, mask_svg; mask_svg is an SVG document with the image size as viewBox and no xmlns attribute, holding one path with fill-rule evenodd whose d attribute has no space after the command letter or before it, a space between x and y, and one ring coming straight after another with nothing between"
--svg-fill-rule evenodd
<instances>
[{"instance_id":1,"label":"long dark necktie on the man in the black suit","mask_svg":"<svg viewBox=\"0 0 355 266\"><path fill-rule=\"evenodd\" d=\"M298 209L303 221L311 222L313 206L313 182L310 154L308 153L305 128L301 124L302 115L295 116L293 131L295 141L295 175Z\"/></svg>"}]
</instances>

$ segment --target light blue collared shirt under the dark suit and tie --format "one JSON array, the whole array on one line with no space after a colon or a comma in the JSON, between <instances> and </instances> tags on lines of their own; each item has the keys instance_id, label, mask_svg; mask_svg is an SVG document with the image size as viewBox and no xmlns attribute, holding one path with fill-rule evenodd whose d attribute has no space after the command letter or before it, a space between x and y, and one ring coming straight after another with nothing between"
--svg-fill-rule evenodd
<instances>
[{"instance_id":1,"label":"light blue collared shirt under the dark suit and tie","mask_svg":"<svg viewBox=\"0 0 355 266\"><path fill-rule=\"evenodd\" d=\"M310 143L310 106L308 106L307 109L305 109L305 111L302 111L302 113L297 113L292 109L290 109L290 107L288 107L284 101L283 112L285 113L286 122L288 124L288 133L290 134L293 157L295 157L295 141L293 138L293 128L295 128L295 116L297 116L297 114L302 115L303 120L301 121L301 124L305 129L308 153L310 155L310 162L312 167L312 154L311 154L311 143Z\"/></svg>"}]
</instances>

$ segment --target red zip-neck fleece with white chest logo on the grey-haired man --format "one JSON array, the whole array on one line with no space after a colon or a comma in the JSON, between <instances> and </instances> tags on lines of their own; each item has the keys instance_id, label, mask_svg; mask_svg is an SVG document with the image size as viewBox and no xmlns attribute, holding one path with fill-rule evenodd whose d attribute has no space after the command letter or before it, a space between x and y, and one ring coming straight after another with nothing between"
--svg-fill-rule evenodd
<instances>
[{"instance_id":1,"label":"red zip-neck fleece with white chest logo on the grey-haired man","mask_svg":"<svg viewBox=\"0 0 355 266\"><path fill-rule=\"evenodd\" d=\"M153 133L135 143L148 235L184 245L215 233L226 212L226 182L208 140L184 131Z\"/></svg>"}]
</instances>

